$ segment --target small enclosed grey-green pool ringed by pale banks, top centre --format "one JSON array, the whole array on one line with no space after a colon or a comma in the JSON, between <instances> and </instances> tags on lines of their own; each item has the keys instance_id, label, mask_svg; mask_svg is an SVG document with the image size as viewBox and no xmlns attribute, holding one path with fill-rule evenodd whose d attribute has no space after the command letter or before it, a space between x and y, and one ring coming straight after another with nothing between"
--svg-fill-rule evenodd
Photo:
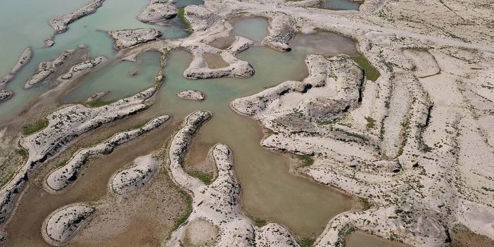
<instances>
[{"instance_id":1,"label":"small enclosed grey-green pool ringed by pale banks, top centre","mask_svg":"<svg viewBox=\"0 0 494 247\"><path fill-rule=\"evenodd\" d=\"M234 23L234 34L260 42L267 35L265 18L246 18Z\"/></svg>"}]
</instances>

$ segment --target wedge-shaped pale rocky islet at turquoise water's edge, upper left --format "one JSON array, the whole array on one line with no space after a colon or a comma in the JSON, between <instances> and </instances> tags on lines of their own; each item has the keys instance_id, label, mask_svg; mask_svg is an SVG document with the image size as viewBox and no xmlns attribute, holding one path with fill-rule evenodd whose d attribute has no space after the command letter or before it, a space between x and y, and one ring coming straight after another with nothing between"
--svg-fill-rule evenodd
<instances>
[{"instance_id":1,"label":"wedge-shaped pale rocky islet at turquoise water's edge, upper left","mask_svg":"<svg viewBox=\"0 0 494 247\"><path fill-rule=\"evenodd\" d=\"M115 49L127 49L161 37L161 32L153 28L139 28L133 30L118 30L108 32L115 40Z\"/></svg>"}]
</instances>

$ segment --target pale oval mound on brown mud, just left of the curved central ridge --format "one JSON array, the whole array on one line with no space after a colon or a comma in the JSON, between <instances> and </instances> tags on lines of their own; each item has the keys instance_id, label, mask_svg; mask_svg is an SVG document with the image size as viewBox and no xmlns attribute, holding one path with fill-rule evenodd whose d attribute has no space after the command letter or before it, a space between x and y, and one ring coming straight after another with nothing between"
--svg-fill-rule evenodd
<instances>
[{"instance_id":1,"label":"pale oval mound on brown mud, just left of the curved central ridge","mask_svg":"<svg viewBox=\"0 0 494 247\"><path fill-rule=\"evenodd\" d=\"M118 172L110 179L111 191L118 195L137 191L150 182L157 170L158 164L153 156L136 158L134 166Z\"/></svg>"}]
</instances>

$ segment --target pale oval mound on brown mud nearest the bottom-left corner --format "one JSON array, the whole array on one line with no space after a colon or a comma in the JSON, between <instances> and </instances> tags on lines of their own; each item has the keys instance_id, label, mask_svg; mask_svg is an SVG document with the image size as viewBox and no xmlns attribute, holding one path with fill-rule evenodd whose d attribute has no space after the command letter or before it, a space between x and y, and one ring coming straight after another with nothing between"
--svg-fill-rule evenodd
<instances>
[{"instance_id":1,"label":"pale oval mound on brown mud nearest the bottom-left corner","mask_svg":"<svg viewBox=\"0 0 494 247\"><path fill-rule=\"evenodd\" d=\"M94 208L85 203L74 203L51 213L42 225L42 236L52 246L64 246L77 231L87 224Z\"/></svg>"}]
</instances>

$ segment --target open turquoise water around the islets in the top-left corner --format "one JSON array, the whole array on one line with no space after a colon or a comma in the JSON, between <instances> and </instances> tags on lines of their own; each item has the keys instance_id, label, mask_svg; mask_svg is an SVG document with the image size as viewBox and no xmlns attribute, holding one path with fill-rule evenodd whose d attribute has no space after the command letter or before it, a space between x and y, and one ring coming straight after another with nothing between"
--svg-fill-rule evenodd
<instances>
[{"instance_id":1,"label":"open turquoise water around the islets in the top-left corner","mask_svg":"<svg viewBox=\"0 0 494 247\"><path fill-rule=\"evenodd\" d=\"M139 22L135 17L148 4L148 0L106 0L96 13L75 21L67 32L56 35L54 46L44 48L44 38L53 33L49 19L77 9L87 4L87 0L60 3L56 0L0 2L0 30L9 34L2 35L0 39L0 76L11 70L27 46L32 46L34 50L30 63L6 87L14 91L15 96L0 104L0 122L20 113L27 103L49 89L48 86L23 89L26 80L37 71L38 64L56 58L62 51L75 49L77 44L89 45L91 56L110 58L115 56L116 51L113 40L106 34L108 30L153 27L160 30L165 38L188 35L177 20L170 21L167 26ZM115 13L118 13L118 18L115 18Z\"/></svg>"}]
</instances>

